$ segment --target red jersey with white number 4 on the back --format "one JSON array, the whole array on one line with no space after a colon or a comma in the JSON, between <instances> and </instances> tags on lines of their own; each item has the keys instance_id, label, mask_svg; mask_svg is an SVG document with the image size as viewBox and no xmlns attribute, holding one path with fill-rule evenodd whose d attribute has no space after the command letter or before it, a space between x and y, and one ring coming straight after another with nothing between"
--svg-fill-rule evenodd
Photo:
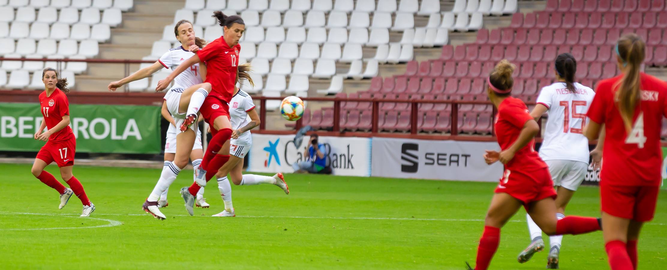
<instances>
[{"instance_id":1,"label":"red jersey with white number 4 on the back","mask_svg":"<svg viewBox=\"0 0 667 270\"><path fill-rule=\"evenodd\" d=\"M667 83L640 73L641 101L628 135L614 102L615 86L621 79L619 75L598 82L587 113L591 121L605 124L600 179L612 185L658 186L662 181L660 129L662 117L667 115Z\"/></svg>"}]
</instances>

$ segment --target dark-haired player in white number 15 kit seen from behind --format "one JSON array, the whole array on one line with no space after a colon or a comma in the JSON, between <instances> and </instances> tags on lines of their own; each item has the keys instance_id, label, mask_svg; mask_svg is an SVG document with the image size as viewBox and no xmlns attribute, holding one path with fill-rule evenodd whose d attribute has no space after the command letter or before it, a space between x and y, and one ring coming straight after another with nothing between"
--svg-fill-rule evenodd
<instances>
[{"instance_id":1,"label":"dark-haired player in white number 15 kit seen from behind","mask_svg":"<svg viewBox=\"0 0 667 270\"><path fill-rule=\"evenodd\" d=\"M549 118L544 129L540 157L549 166L556 186L556 217L565 217L565 207L572 199L588 173L588 139L583 134L586 112L595 95L593 89L574 82L576 60L570 53L556 57L555 72L558 82L543 87L530 113L539 120L544 113ZM530 260L534 253L544 249L542 231L530 215L526 215L531 243L518 257L520 263ZM547 269L558 269L562 235L550 237L551 249Z\"/></svg>"}]
</instances>

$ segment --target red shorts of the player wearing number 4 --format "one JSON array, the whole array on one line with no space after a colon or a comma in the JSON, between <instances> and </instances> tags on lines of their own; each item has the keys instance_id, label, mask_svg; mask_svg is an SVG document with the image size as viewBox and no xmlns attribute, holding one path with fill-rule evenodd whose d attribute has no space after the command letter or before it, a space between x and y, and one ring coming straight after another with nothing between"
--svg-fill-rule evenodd
<instances>
[{"instance_id":1,"label":"red shorts of the player wearing number 4","mask_svg":"<svg viewBox=\"0 0 667 270\"><path fill-rule=\"evenodd\" d=\"M660 187L613 185L600 181L600 205L602 211L634 221L646 222L653 219L658 203Z\"/></svg>"}]
</instances>

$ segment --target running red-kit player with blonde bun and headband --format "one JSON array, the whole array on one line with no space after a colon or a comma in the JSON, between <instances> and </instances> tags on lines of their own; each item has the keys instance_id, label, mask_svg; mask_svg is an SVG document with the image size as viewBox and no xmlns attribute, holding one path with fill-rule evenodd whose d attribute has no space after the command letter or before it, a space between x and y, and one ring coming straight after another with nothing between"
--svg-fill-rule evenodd
<instances>
[{"instance_id":1,"label":"running red-kit player with blonde bun and headband","mask_svg":"<svg viewBox=\"0 0 667 270\"><path fill-rule=\"evenodd\" d=\"M515 68L504 59L487 80L489 99L498 108L496 136L502 151L487 150L484 159L487 164L502 162L505 170L484 220L484 233L477 251L477 270L488 269L500 243L500 228L522 205L547 235L574 235L600 229L598 219L593 217L556 219L554 183L546 163L534 150L533 138L540 127L524 102L510 97ZM468 269L472 268L468 266Z\"/></svg>"}]
</instances>

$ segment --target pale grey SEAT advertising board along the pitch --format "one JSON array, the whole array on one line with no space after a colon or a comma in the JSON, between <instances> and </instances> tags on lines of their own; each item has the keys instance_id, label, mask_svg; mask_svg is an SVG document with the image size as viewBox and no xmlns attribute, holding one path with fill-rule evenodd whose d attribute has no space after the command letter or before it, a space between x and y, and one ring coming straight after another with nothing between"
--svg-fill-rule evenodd
<instances>
[{"instance_id":1,"label":"pale grey SEAT advertising board along the pitch","mask_svg":"<svg viewBox=\"0 0 667 270\"><path fill-rule=\"evenodd\" d=\"M498 181L502 164L486 165L484 150L495 142L373 138L372 176Z\"/></svg>"}]
</instances>

